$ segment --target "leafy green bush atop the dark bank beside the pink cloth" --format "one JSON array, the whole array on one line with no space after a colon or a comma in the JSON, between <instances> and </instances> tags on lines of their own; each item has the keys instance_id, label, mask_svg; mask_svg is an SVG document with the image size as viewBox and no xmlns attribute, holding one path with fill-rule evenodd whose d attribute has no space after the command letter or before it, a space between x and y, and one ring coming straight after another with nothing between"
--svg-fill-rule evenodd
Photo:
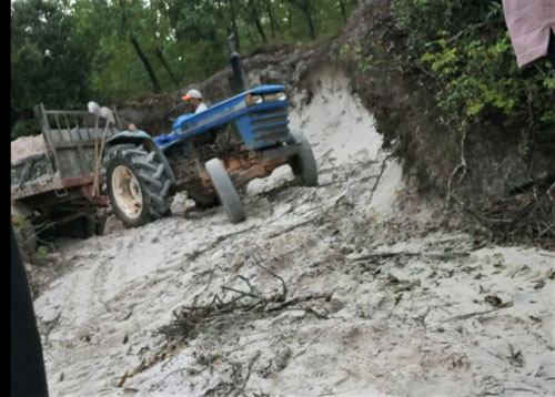
<instances>
[{"instance_id":1,"label":"leafy green bush atop the dark bank beside the pink cloth","mask_svg":"<svg viewBox=\"0 0 555 397\"><path fill-rule=\"evenodd\" d=\"M436 83L445 123L555 132L555 73L546 62L518 70L501 2L395 0L393 10L407 59Z\"/></svg>"}]
</instances>

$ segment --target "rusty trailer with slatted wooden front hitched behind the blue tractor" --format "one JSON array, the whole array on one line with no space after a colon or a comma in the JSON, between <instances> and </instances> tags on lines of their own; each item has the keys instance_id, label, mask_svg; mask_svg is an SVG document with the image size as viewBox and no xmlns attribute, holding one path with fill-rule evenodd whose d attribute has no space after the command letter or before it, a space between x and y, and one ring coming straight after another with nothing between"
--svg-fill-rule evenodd
<instances>
[{"instance_id":1,"label":"rusty trailer with slatted wooden front hitched behind the blue tractor","mask_svg":"<svg viewBox=\"0 0 555 397\"><path fill-rule=\"evenodd\" d=\"M42 104L34 112L43 142L36 138L39 150L22 159L12 152L12 222L20 242L33 247L36 236L44 233L83 238L102 233L108 196L100 190L101 146L119 132L118 118L111 122Z\"/></svg>"}]
</instances>

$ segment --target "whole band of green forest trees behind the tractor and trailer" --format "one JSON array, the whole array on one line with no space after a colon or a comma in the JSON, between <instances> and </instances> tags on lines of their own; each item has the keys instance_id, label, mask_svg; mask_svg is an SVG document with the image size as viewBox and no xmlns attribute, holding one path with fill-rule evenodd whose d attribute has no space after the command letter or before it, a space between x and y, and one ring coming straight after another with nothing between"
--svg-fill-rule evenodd
<instances>
[{"instance_id":1,"label":"whole band of green forest trees behind the tractor and trailer","mask_svg":"<svg viewBox=\"0 0 555 397\"><path fill-rule=\"evenodd\" d=\"M345 0L16 0L11 3L11 136L37 133L32 108L82 109L208 78L272 42L340 31Z\"/></svg>"}]
</instances>

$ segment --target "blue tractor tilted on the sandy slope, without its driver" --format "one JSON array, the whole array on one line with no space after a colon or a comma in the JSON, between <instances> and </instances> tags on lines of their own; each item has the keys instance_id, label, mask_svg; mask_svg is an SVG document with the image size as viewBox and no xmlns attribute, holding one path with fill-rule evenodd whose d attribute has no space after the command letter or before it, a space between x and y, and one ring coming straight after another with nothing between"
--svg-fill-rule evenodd
<instances>
[{"instance_id":1,"label":"blue tractor tilted on the sandy slope, without its driver","mask_svg":"<svg viewBox=\"0 0 555 397\"><path fill-rule=\"evenodd\" d=\"M221 204L232 223L245 220L236 189L289 164L299 184L317 185L314 154L290 131L283 85L261 85L178 118L169 134L151 138L133 125L107 142L105 187L127 227L170 213L186 191L200 207Z\"/></svg>"}]
</instances>

